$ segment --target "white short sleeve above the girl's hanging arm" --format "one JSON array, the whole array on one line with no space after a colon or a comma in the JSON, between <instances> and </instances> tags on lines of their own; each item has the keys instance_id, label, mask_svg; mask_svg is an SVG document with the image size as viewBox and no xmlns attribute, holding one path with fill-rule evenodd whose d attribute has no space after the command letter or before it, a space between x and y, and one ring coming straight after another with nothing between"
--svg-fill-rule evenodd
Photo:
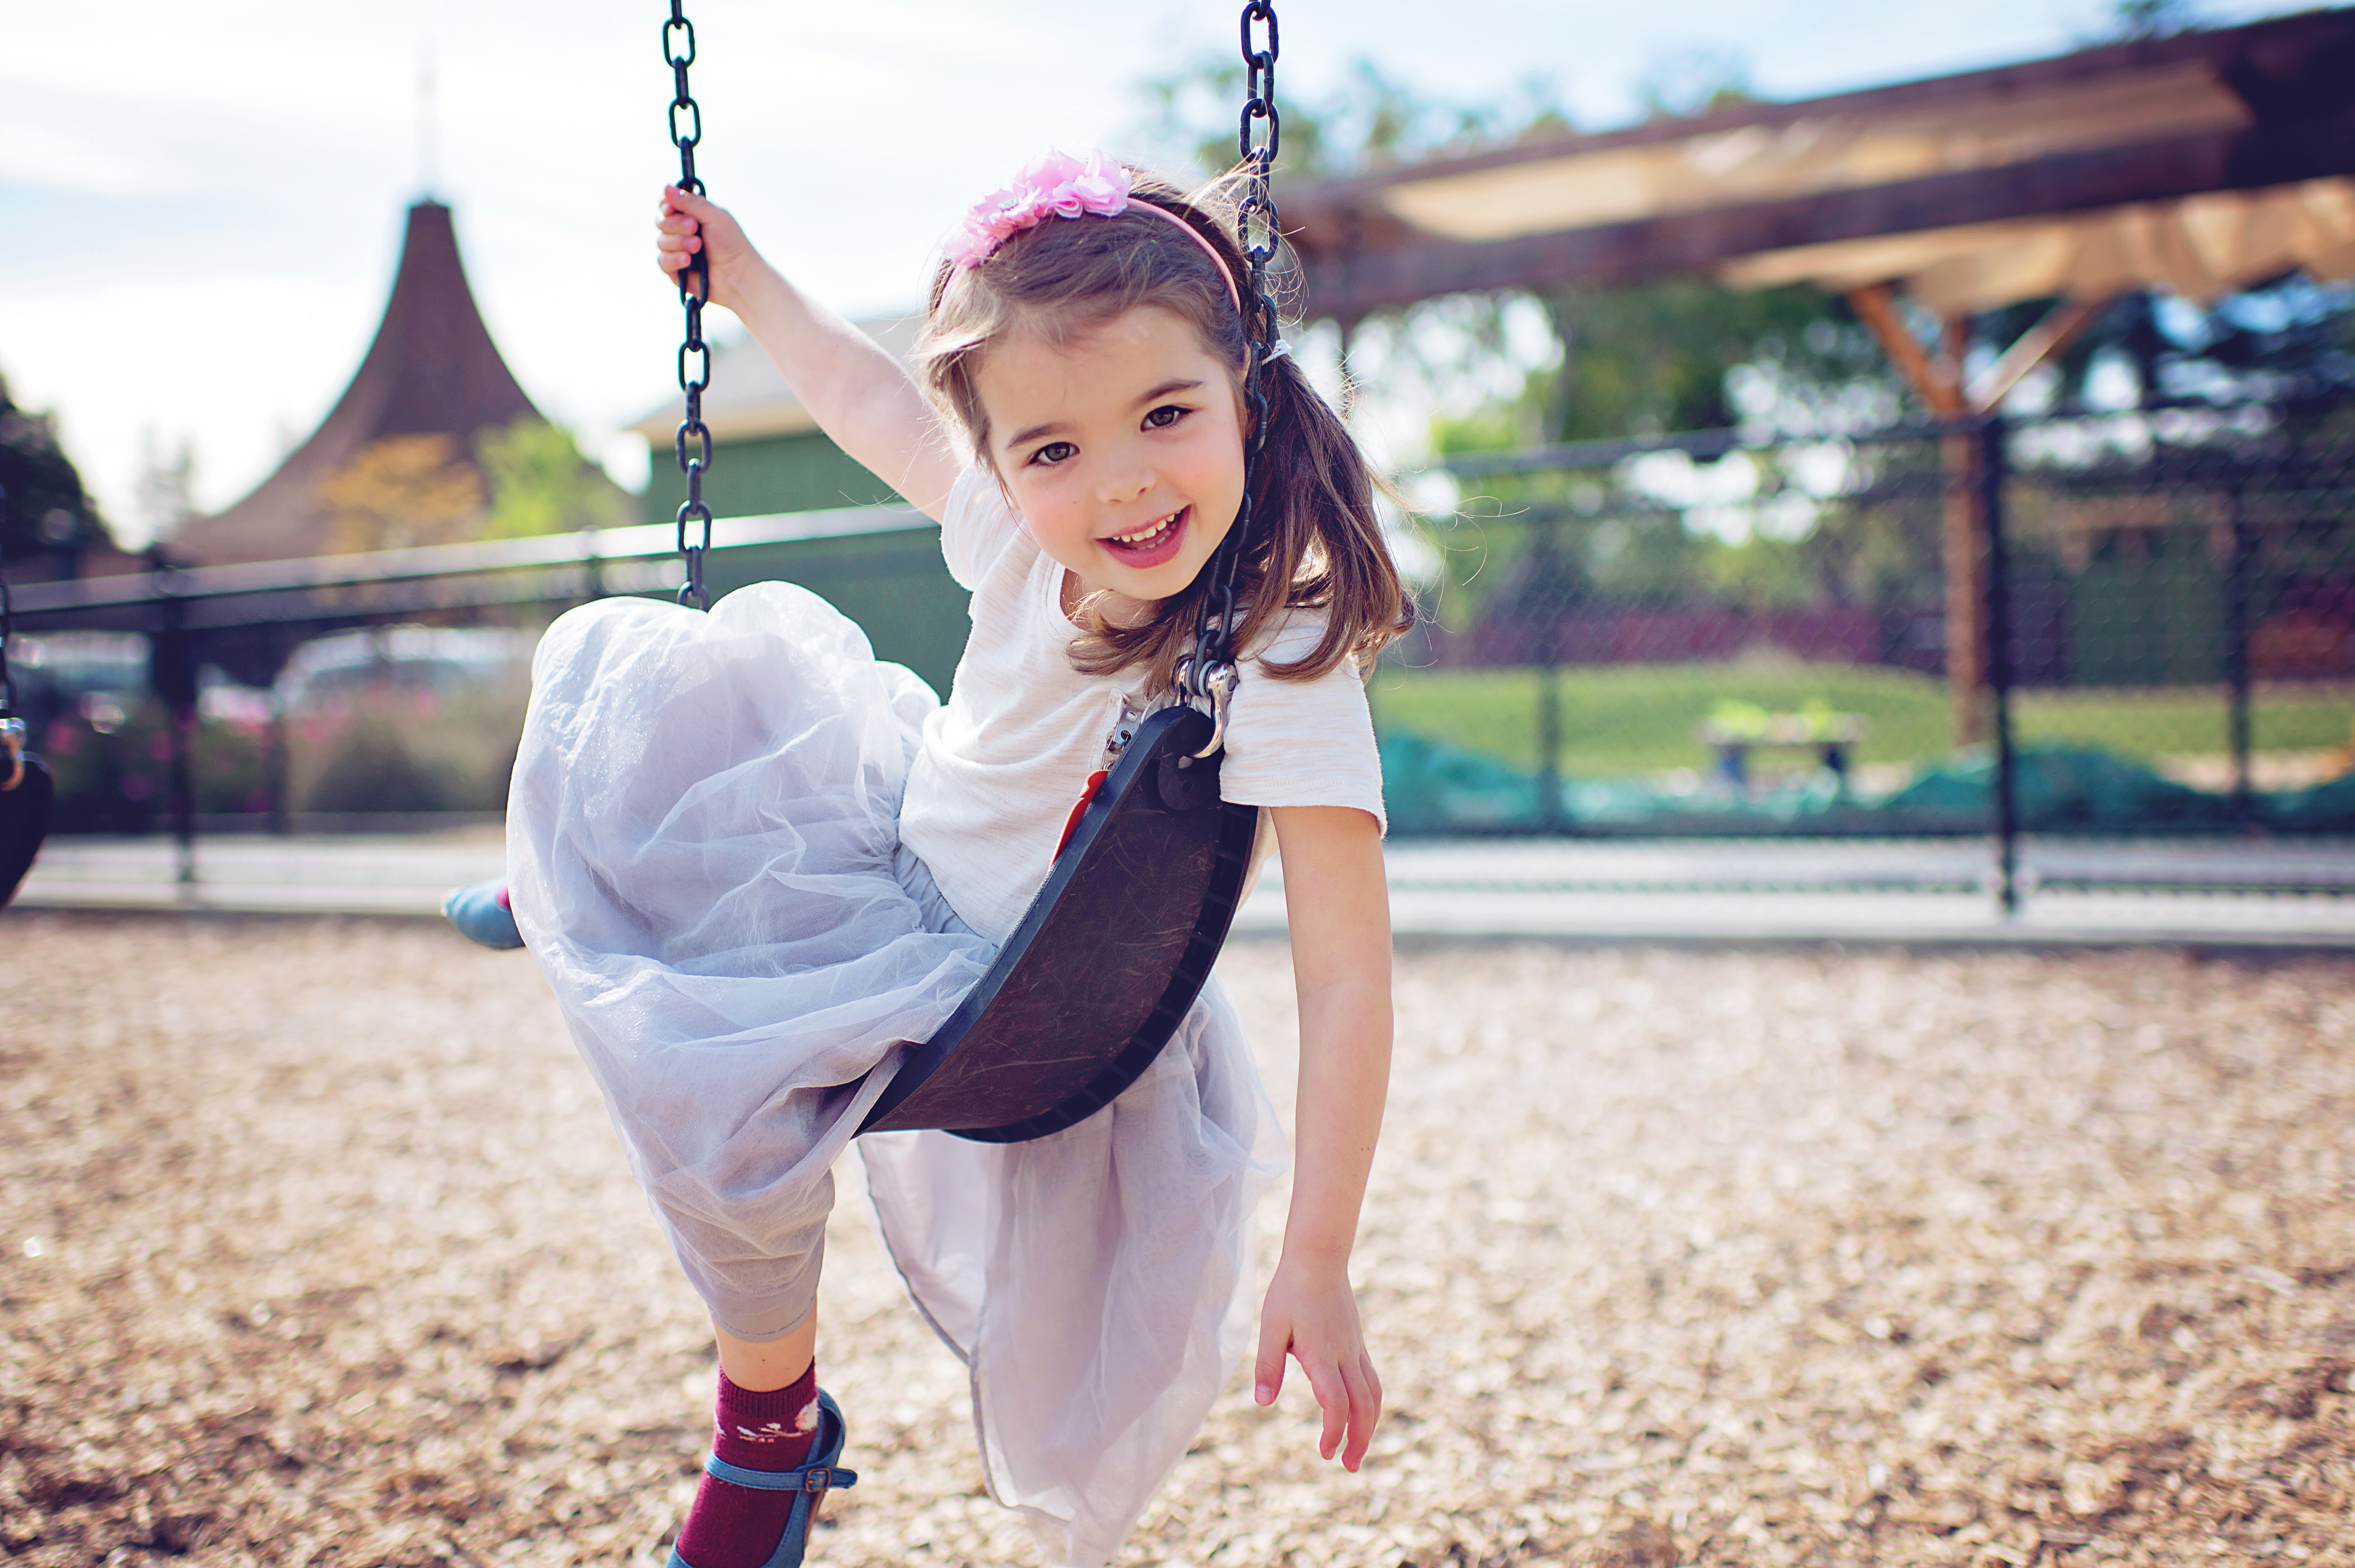
<instances>
[{"instance_id":1,"label":"white short sleeve above the girl's hanging arm","mask_svg":"<svg viewBox=\"0 0 2355 1568\"><path fill-rule=\"evenodd\" d=\"M1382 756L1356 662L1314 680L1276 680L1260 659L1291 664L1324 636L1321 614L1293 614L1248 659L1227 709L1227 760L1218 789L1239 805L1354 805L1389 831L1382 810Z\"/></svg>"}]
</instances>

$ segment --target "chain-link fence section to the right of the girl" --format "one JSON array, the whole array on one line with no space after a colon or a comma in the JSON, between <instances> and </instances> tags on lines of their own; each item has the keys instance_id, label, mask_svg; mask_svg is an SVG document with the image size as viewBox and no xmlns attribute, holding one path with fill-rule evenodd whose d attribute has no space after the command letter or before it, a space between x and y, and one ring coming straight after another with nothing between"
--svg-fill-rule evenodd
<instances>
[{"instance_id":1,"label":"chain-link fence section to the right of the girl","mask_svg":"<svg viewBox=\"0 0 2355 1568\"><path fill-rule=\"evenodd\" d=\"M2355 831L2355 403L1448 466L1397 831Z\"/></svg>"}]
</instances>

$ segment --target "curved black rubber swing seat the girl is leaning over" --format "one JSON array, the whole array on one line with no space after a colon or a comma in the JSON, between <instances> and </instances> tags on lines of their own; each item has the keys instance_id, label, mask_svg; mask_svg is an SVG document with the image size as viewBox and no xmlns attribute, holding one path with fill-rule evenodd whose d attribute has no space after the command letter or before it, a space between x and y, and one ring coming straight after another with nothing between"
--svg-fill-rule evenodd
<instances>
[{"instance_id":1,"label":"curved black rubber swing seat the girl is leaning over","mask_svg":"<svg viewBox=\"0 0 2355 1568\"><path fill-rule=\"evenodd\" d=\"M911 1045L860 1132L1015 1144L1145 1076L1201 996L1251 871L1255 805L1218 793L1210 718L1149 713L1088 800L996 963Z\"/></svg>"}]
</instances>

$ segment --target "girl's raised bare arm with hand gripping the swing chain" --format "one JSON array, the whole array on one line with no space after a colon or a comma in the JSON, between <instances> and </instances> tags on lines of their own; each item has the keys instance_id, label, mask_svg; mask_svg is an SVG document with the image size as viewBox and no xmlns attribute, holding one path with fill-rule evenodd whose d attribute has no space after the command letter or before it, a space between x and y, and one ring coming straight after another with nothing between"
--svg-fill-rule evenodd
<instances>
[{"instance_id":1,"label":"girl's raised bare arm with hand gripping the swing chain","mask_svg":"<svg viewBox=\"0 0 2355 1568\"><path fill-rule=\"evenodd\" d=\"M817 428L937 523L963 459L900 360L787 283L725 207L664 186L655 264L676 278L695 252L711 304L737 313Z\"/></svg>"}]
</instances>

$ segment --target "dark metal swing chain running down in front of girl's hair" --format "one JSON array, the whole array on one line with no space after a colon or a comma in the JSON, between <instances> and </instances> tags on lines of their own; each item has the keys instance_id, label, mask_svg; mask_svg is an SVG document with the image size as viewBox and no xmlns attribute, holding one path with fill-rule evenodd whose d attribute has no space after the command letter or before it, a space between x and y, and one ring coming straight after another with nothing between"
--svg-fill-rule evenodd
<instances>
[{"instance_id":1,"label":"dark metal swing chain running down in front of girl's hair","mask_svg":"<svg viewBox=\"0 0 2355 1568\"><path fill-rule=\"evenodd\" d=\"M1255 24L1267 26L1260 45ZM1203 605L1201 631L1194 636L1194 657L1185 662L1178 685L1189 699L1210 704L1210 744L1196 756L1210 756L1225 739L1227 699L1234 692L1234 582L1243 565L1246 539L1251 534L1251 497L1260 476L1260 450L1267 445L1267 363L1279 353L1281 337L1276 304L1267 294L1267 264L1276 257L1281 240L1276 198L1267 191L1267 177L1276 165L1276 148L1283 141L1283 115L1276 113L1276 7L1274 0L1248 0L1241 16L1243 40L1243 115L1236 146L1243 153L1243 200L1236 202L1234 242L1251 266L1243 278L1243 405L1251 410L1251 445L1243 450L1243 504L1234 513L1234 527L1210 560L1210 596Z\"/></svg>"}]
</instances>

